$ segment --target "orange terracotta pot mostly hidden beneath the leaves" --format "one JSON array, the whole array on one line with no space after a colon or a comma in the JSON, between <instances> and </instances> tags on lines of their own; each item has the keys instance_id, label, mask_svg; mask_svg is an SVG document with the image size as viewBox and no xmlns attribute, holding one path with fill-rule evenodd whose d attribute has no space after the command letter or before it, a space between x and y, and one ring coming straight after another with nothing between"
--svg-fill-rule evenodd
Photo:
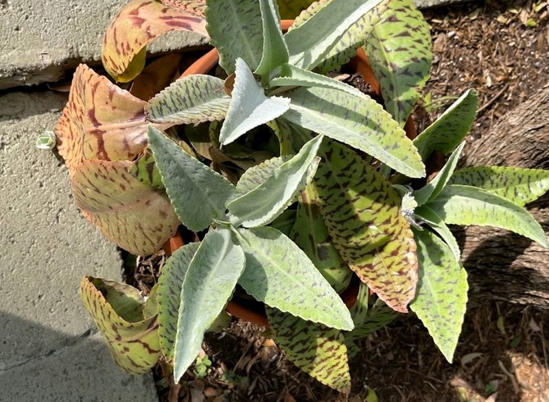
<instances>
[{"instance_id":1,"label":"orange terracotta pot mostly hidden beneath the leaves","mask_svg":"<svg viewBox=\"0 0 549 402\"><path fill-rule=\"evenodd\" d=\"M281 21L282 30L287 31L293 22L294 21L292 20ZM207 74L213 67L215 67L216 64L218 64L218 62L219 55L217 49L211 49L211 51L191 64L191 66L185 70L181 77L187 77L192 74ZM364 53L362 48L358 49L357 55L349 62L349 66L364 77L364 80L372 86L377 95L380 94L379 83L375 79L366 53ZM409 138L416 137L416 129L411 116L408 118L404 129ZM176 251L176 249L183 246L183 244L185 244L183 237L181 236L180 231L177 231L176 235L164 244L164 250L166 254L170 256L174 251ZM356 275L353 275L351 283L347 289L340 294L342 301L348 308L351 308L356 302L359 285L360 280ZM244 321L257 325L263 325L264 327L269 326L264 306L259 301L255 301L253 299L241 299L235 296L231 299L231 301L229 301L229 304L226 306L226 311Z\"/></svg>"}]
</instances>

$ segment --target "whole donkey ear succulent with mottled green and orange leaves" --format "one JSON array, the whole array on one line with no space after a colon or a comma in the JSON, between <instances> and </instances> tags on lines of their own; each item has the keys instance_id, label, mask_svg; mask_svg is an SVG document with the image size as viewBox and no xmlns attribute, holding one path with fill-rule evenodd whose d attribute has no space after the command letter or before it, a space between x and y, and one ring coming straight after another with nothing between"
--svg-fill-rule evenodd
<instances>
[{"instance_id":1,"label":"whole donkey ear succulent with mottled green and orange leaves","mask_svg":"<svg viewBox=\"0 0 549 402\"><path fill-rule=\"evenodd\" d=\"M106 71L142 79L145 46L174 29L210 40L217 75L183 74L142 101L80 66L56 127L75 200L108 238L141 255L180 224L200 240L167 259L146 302L84 279L116 362L142 373L161 358L179 381L243 293L264 305L288 359L340 392L355 341L408 309L451 362L468 287L448 225L504 227L547 247L523 207L549 173L456 170L474 90L408 137L432 59L412 0L133 0L106 32ZM357 52L384 105L327 75ZM449 158L427 181L434 151Z\"/></svg>"}]
</instances>

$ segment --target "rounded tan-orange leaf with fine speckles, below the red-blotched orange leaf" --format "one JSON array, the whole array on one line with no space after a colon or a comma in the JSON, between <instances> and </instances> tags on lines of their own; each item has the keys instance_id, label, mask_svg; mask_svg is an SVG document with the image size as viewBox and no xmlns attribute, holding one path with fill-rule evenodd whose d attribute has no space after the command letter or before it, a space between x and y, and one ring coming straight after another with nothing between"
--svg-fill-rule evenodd
<instances>
[{"instance_id":1,"label":"rounded tan-orange leaf with fine speckles, below the red-blotched orange leaf","mask_svg":"<svg viewBox=\"0 0 549 402\"><path fill-rule=\"evenodd\" d=\"M130 161L89 160L74 168L74 200L82 214L119 247L149 255L172 237L179 220L164 192L128 173Z\"/></svg>"}]
</instances>

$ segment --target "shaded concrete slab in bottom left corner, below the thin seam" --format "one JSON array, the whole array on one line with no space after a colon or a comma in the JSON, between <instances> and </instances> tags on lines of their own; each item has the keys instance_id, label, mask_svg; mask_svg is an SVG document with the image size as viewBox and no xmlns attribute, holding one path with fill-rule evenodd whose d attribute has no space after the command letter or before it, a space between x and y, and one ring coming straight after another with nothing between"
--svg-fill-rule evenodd
<instances>
[{"instance_id":1,"label":"shaded concrete slab in bottom left corner, below the thin seam","mask_svg":"<svg viewBox=\"0 0 549 402\"><path fill-rule=\"evenodd\" d=\"M2 401L154 402L152 375L119 370L99 334L0 371Z\"/></svg>"}]
</instances>

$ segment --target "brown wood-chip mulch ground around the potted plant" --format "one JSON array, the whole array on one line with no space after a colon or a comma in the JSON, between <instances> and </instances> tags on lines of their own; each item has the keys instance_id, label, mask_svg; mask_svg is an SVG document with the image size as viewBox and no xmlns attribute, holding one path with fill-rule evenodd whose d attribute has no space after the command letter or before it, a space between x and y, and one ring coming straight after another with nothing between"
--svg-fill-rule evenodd
<instances>
[{"instance_id":1,"label":"brown wood-chip mulch ground around the potted plant","mask_svg":"<svg viewBox=\"0 0 549 402\"><path fill-rule=\"evenodd\" d=\"M539 7L536 7L539 5ZM480 97L467 140L549 82L549 2L473 1L425 12L434 45L432 78L417 112L428 125L467 88ZM154 282L162 255L128 273L139 288ZM351 360L353 388L341 395L285 360L264 328L233 321L208 334L211 364L187 374L180 401L524 401L549 402L549 311L487 303L465 318L454 363L445 362L414 316L371 334ZM167 401L167 384L156 370ZM375 395L374 395L375 394Z\"/></svg>"}]
</instances>

